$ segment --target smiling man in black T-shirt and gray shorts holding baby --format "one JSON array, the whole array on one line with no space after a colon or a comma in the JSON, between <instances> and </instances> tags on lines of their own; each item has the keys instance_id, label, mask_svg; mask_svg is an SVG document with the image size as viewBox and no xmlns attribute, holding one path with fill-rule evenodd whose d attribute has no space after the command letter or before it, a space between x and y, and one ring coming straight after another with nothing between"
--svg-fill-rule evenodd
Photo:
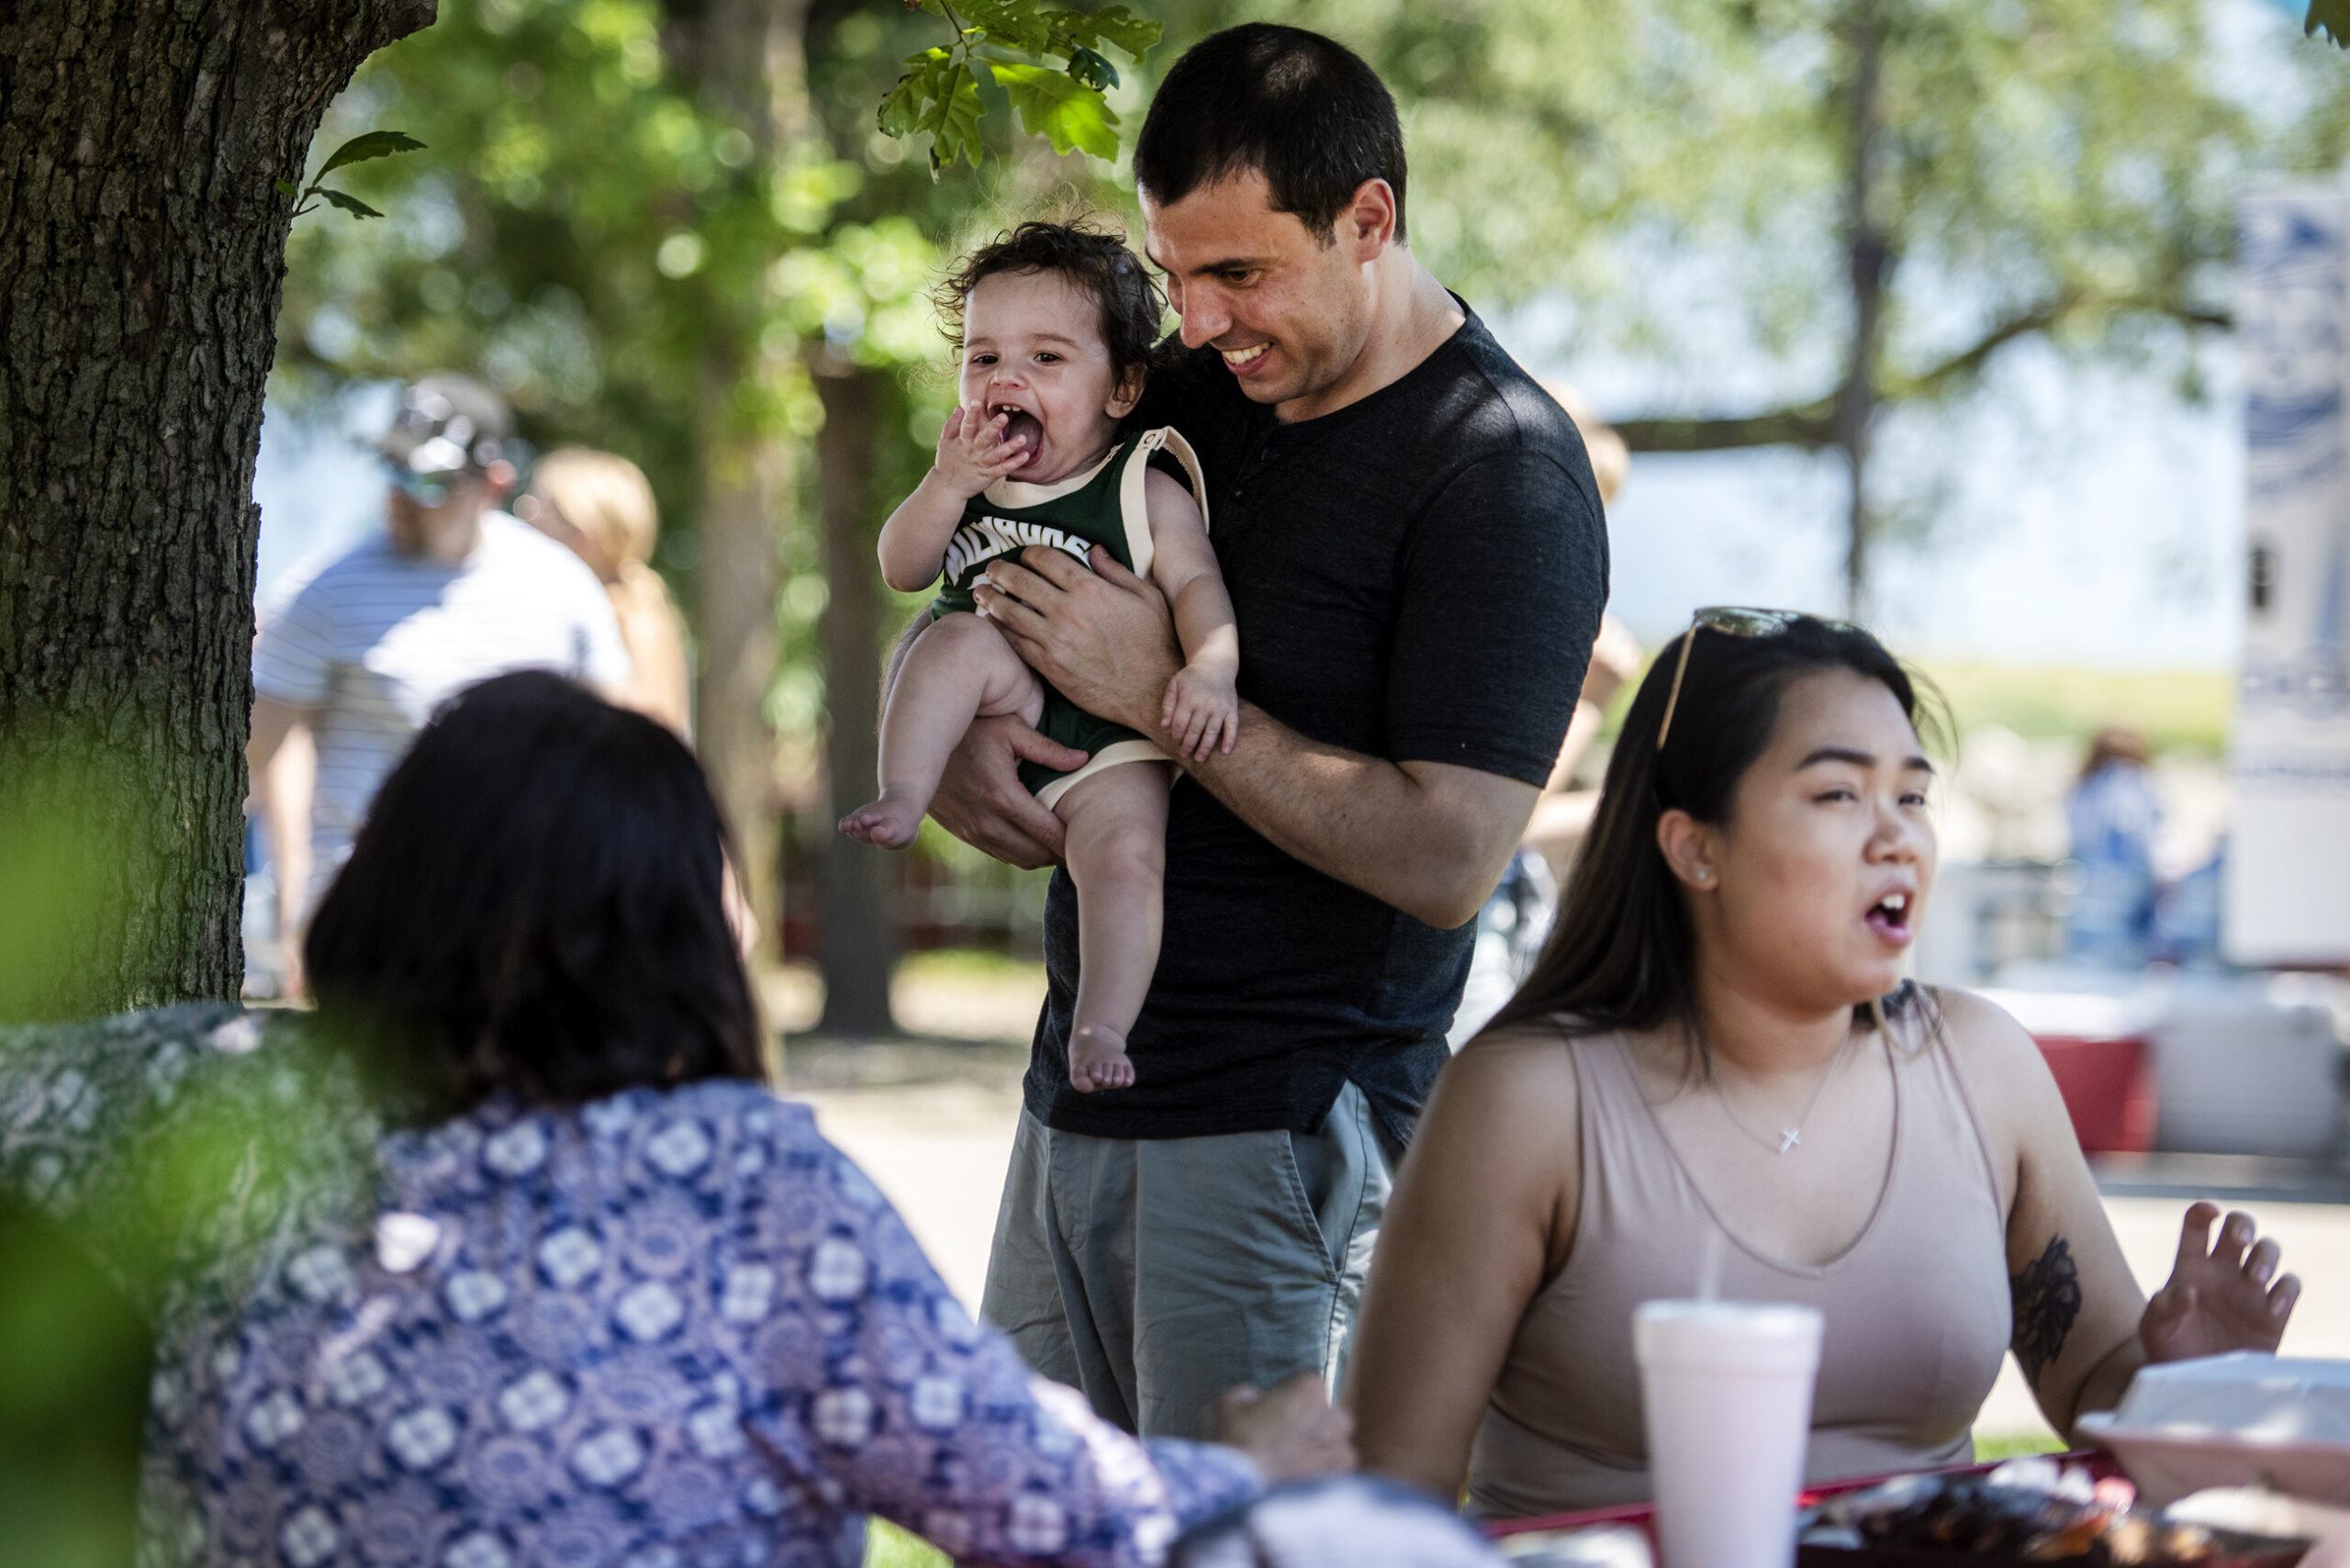
<instances>
[{"instance_id":1,"label":"smiling man in black T-shirt and gray shorts holding baby","mask_svg":"<svg viewBox=\"0 0 2350 1568\"><path fill-rule=\"evenodd\" d=\"M1135 148L1182 317L1140 425L1173 425L1241 642L1229 750L1184 755L1135 1084L1076 1093L1069 877L985 1314L1144 1434L1231 1385L1337 1378L1394 1161L1445 1063L1473 917L1558 755L1607 595L1572 421L1405 242L1394 99L1297 28L1208 38ZM1161 726L1182 649L1095 550L1003 557L987 616L1076 708ZM1015 865L1062 823L980 719L933 816Z\"/></svg>"}]
</instances>

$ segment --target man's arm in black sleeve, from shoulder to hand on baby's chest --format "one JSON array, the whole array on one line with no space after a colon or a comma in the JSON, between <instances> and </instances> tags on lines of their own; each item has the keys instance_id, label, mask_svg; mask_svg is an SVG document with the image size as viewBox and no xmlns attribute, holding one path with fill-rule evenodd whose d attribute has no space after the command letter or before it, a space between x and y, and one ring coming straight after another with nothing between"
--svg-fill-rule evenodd
<instances>
[{"instance_id":1,"label":"man's arm in black sleeve, from shoulder to hand on baby's chest","mask_svg":"<svg viewBox=\"0 0 2350 1568\"><path fill-rule=\"evenodd\" d=\"M1511 447L1455 470L1405 531L1384 654L1384 757L1241 712L1229 755L1184 766L1292 858L1438 929L1492 893L1551 771L1607 595L1605 522L1579 461ZM1159 590L1027 550L980 604L1086 712L1149 733L1180 663Z\"/></svg>"}]
</instances>

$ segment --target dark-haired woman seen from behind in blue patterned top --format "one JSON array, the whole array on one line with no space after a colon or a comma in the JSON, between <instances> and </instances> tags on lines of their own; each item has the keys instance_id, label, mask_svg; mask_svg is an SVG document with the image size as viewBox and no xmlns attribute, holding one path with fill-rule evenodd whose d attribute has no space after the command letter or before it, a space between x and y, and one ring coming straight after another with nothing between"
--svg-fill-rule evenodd
<instances>
[{"instance_id":1,"label":"dark-haired woman seen from behind in blue patterned top","mask_svg":"<svg viewBox=\"0 0 2350 1568\"><path fill-rule=\"evenodd\" d=\"M1344 1467L1318 1380L1135 1443L759 1084L684 743L458 696L308 936L320 1011L0 1030L0 1182L148 1305L143 1563L1154 1563Z\"/></svg>"}]
</instances>

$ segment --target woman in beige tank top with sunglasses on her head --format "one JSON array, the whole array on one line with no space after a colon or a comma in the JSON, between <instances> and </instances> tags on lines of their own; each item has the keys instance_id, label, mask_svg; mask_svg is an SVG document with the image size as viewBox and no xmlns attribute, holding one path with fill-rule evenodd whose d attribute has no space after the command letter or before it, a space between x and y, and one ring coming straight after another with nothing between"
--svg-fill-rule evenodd
<instances>
[{"instance_id":1,"label":"woman in beige tank top with sunglasses on her head","mask_svg":"<svg viewBox=\"0 0 2350 1568\"><path fill-rule=\"evenodd\" d=\"M2033 1039L1901 969L1934 886L1918 696L1871 635L1699 611L1650 670L1542 964L1443 1079L1379 1232L1365 1469L1528 1516L1647 1497L1631 1309L1826 1314L1812 1479L1960 1462L2012 1347L2059 1432L2155 1359L2275 1349L2232 1213L2129 1276Z\"/></svg>"}]
</instances>

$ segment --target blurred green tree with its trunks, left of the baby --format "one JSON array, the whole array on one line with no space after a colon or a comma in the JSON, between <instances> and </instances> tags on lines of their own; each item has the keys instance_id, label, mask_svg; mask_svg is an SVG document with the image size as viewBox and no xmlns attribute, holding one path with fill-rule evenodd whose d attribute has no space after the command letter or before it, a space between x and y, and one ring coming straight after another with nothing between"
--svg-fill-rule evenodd
<instances>
[{"instance_id":1,"label":"blurred green tree with its trunks, left of the baby","mask_svg":"<svg viewBox=\"0 0 2350 1568\"><path fill-rule=\"evenodd\" d=\"M329 113L329 132L395 125L430 150L352 172L392 219L298 235L280 322L296 414L454 364L501 386L538 447L649 473L754 907L783 931L778 865L813 872L820 926L794 905L787 936L818 947L820 1027L851 1037L893 1027L893 865L830 823L870 795L881 642L916 602L886 595L872 541L952 402L926 289L966 228L1050 188L1100 200L1107 169L1020 136L989 80L947 85L1001 110L959 120L975 141L954 150L987 148L985 174L933 179L926 134L884 134L877 108L942 38L940 16L839 0L446 0Z\"/></svg>"}]
</instances>

